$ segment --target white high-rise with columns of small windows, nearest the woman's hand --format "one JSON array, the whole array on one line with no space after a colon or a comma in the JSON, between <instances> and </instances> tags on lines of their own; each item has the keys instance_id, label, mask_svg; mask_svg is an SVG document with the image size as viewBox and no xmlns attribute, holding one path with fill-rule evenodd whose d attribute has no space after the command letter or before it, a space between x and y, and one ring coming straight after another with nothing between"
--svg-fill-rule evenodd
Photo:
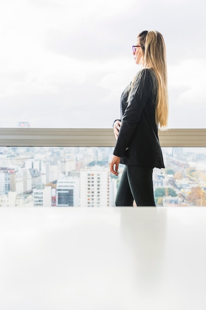
<instances>
[{"instance_id":1,"label":"white high-rise with columns of small windows, nearest the woman's hand","mask_svg":"<svg viewBox=\"0 0 206 310\"><path fill-rule=\"evenodd\" d=\"M81 207L109 207L110 171L108 168L93 166L80 171Z\"/></svg>"}]
</instances>

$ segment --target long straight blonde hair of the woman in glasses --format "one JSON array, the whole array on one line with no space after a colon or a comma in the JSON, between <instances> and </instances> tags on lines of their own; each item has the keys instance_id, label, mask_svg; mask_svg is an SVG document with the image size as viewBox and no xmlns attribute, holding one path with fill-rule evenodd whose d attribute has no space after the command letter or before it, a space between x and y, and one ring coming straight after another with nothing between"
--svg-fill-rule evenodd
<instances>
[{"instance_id":1,"label":"long straight blonde hair of the woman in glasses","mask_svg":"<svg viewBox=\"0 0 206 310\"><path fill-rule=\"evenodd\" d=\"M142 31L137 38L139 38L139 44L143 51L143 67L153 69L155 72L155 76L151 75L154 85L157 84L157 106L155 117L157 125L164 130L167 127L168 120L165 42L162 34L158 31ZM157 79L156 83L154 79Z\"/></svg>"}]
</instances>

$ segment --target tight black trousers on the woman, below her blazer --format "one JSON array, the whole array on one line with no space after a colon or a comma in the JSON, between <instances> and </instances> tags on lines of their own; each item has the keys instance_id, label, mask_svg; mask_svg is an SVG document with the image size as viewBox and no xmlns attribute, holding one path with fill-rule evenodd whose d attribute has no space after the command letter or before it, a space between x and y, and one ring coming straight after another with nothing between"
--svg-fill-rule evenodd
<instances>
[{"instance_id":1,"label":"tight black trousers on the woman, below her blazer","mask_svg":"<svg viewBox=\"0 0 206 310\"><path fill-rule=\"evenodd\" d=\"M155 207L153 168L125 165L115 201L116 207Z\"/></svg>"}]
</instances>

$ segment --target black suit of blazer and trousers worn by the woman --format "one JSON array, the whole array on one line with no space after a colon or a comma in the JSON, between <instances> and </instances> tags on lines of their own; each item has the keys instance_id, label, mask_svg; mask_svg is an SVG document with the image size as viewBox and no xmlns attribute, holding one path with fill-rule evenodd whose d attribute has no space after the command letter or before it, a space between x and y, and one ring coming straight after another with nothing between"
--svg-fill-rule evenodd
<instances>
[{"instance_id":1,"label":"black suit of blazer and trousers worn by the woman","mask_svg":"<svg viewBox=\"0 0 206 310\"><path fill-rule=\"evenodd\" d=\"M155 77L155 78L154 78ZM152 69L139 72L128 100L121 97L121 128L114 155L125 164L116 206L155 206L152 172L165 168L155 120L157 78Z\"/></svg>"}]
</instances>

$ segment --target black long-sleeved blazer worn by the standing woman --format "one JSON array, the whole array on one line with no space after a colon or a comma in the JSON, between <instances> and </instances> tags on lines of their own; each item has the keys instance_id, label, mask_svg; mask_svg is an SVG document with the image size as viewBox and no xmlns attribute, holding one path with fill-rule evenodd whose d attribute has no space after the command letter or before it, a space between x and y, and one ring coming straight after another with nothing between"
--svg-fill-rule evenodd
<instances>
[{"instance_id":1,"label":"black long-sleeved blazer worn by the standing woman","mask_svg":"<svg viewBox=\"0 0 206 310\"><path fill-rule=\"evenodd\" d=\"M157 82L152 75L152 69L139 72L128 103L128 87L122 94L122 124L113 154L123 164L165 168L155 121Z\"/></svg>"}]
</instances>

